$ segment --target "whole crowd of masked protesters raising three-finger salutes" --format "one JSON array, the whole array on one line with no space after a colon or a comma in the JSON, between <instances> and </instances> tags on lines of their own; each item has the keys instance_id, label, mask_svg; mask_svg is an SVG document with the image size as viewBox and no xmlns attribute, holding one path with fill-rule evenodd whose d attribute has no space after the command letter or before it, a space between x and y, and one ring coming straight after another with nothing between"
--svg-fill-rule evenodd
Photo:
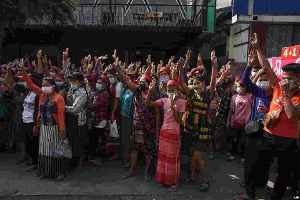
<instances>
[{"instance_id":1,"label":"whole crowd of masked protesters raising three-finger salutes","mask_svg":"<svg viewBox=\"0 0 300 200\"><path fill-rule=\"evenodd\" d=\"M253 199L256 190L268 188L271 162L277 157L271 198L282 199L288 186L298 190L300 177L294 163L299 155L300 65L283 66L280 80L257 35L251 39L255 49L249 51L242 77L232 76L232 59L218 72L211 52L209 83L200 55L197 66L190 68L190 51L185 60L174 62L172 56L166 66L161 61L157 67L151 55L144 66L126 66L116 50L108 66L103 62L107 56L94 57L94 65L88 55L76 67L69 49L63 52L61 68L52 66L42 50L37 63L29 57L14 60L1 66L0 142L18 145L21 154L14 164L25 162L26 171L37 170L38 178L58 181L66 171L65 159L55 153L61 140L70 142L71 168L87 161L99 166L108 156L130 168L123 179L135 173L143 153L145 181L152 180L149 169L157 158L158 187L169 185L170 192L178 191L182 147L190 153L190 177L183 183L195 182L200 169L201 191L211 184L206 162L220 150L227 161L239 157L244 165L241 185L246 193L236 200ZM114 120L119 137L110 135Z\"/></svg>"}]
</instances>

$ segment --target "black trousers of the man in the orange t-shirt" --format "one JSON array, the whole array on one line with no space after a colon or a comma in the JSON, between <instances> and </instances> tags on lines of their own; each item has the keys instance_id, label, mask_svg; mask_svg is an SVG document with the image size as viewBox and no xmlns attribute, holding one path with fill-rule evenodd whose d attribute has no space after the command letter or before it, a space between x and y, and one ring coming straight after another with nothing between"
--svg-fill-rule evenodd
<instances>
[{"instance_id":1,"label":"black trousers of the man in the orange t-shirt","mask_svg":"<svg viewBox=\"0 0 300 200\"><path fill-rule=\"evenodd\" d=\"M264 132L262 140L258 143L258 156L253 170L259 169L262 165L265 165L263 166L265 169L274 156L278 159L278 174L271 194L272 200L281 200L286 187L293 182L291 171L295 169L297 148L297 139L271 135L268 132ZM248 193L251 195L251 191L247 190Z\"/></svg>"}]
</instances>

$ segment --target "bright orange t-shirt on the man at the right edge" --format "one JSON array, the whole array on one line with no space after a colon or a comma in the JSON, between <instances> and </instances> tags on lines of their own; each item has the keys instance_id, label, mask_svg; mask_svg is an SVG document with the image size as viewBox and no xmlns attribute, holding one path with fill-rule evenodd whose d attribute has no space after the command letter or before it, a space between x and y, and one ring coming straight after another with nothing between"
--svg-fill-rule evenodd
<instances>
[{"instance_id":1,"label":"bright orange t-shirt on the man at the right edge","mask_svg":"<svg viewBox=\"0 0 300 200\"><path fill-rule=\"evenodd\" d=\"M274 94L273 99L270 105L270 111L278 110L280 107L276 104L280 100L283 100L282 90L279 86L279 79L277 79L277 84L273 87ZM276 103L275 103L276 102ZM300 103L300 93L292 98L292 104L295 106ZM278 135L281 137L290 137L290 138L298 138L298 118L296 119L288 119L286 116L285 111L283 110L280 113L279 120L277 126L270 131L268 128L264 128L265 131L269 132L270 134Z\"/></svg>"}]
</instances>

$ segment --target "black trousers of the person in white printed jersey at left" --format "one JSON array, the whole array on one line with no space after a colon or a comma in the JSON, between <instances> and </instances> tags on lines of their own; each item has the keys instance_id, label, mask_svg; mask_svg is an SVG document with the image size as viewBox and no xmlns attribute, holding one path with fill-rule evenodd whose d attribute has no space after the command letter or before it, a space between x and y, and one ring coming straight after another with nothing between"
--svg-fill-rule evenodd
<instances>
[{"instance_id":1,"label":"black trousers of the person in white printed jersey at left","mask_svg":"<svg viewBox=\"0 0 300 200\"><path fill-rule=\"evenodd\" d=\"M31 123L24 123L22 127L22 134L26 137L26 152L32 158L33 164L38 164L38 153L39 153L39 136L33 135L33 127L35 124Z\"/></svg>"}]
</instances>

